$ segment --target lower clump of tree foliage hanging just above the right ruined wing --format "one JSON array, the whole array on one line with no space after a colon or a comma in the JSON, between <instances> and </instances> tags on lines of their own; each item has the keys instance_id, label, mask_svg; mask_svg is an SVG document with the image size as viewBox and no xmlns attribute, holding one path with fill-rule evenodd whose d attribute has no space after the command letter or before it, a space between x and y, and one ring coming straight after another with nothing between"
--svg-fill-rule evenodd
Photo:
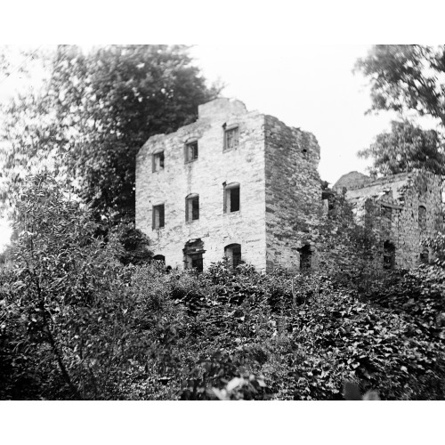
<instances>
[{"instance_id":1,"label":"lower clump of tree foliage hanging just above the right ruined wing","mask_svg":"<svg viewBox=\"0 0 445 445\"><path fill-rule=\"evenodd\" d=\"M445 154L439 134L423 130L408 121L392 121L391 133L382 133L368 149L359 151L361 158L372 158L372 174L398 174L423 168L434 174L445 174Z\"/></svg>"}]
</instances>

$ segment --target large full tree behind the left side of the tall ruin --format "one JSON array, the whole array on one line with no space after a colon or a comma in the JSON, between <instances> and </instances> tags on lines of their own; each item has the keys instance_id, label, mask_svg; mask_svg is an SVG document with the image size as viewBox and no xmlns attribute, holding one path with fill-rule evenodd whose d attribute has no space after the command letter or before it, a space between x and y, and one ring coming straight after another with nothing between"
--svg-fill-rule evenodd
<instances>
[{"instance_id":1,"label":"large full tree behind the left side of the tall ruin","mask_svg":"<svg viewBox=\"0 0 445 445\"><path fill-rule=\"evenodd\" d=\"M192 122L212 100L183 45L59 46L49 76L6 104L0 141L12 177L42 161L77 185L96 219L134 220L135 156L153 134ZM4 64L6 66L6 64Z\"/></svg>"}]
</instances>

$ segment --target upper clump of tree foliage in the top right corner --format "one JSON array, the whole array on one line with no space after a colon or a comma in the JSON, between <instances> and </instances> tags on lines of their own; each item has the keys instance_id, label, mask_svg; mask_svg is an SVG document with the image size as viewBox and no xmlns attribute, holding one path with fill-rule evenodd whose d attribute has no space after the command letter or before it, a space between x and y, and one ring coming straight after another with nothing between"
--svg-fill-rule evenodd
<instances>
[{"instance_id":1,"label":"upper clump of tree foliage in the top right corner","mask_svg":"<svg viewBox=\"0 0 445 445\"><path fill-rule=\"evenodd\" d=\"M445 126L445 45L377 44L356 69L370 80L372 109L415 110Z\"/></svg>"}]
</instances>

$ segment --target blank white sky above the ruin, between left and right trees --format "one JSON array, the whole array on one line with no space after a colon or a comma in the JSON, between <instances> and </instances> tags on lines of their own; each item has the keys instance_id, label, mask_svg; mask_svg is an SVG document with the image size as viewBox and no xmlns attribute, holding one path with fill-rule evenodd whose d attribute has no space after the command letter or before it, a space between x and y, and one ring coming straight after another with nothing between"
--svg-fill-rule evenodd
<instances>
[{"instance_id":1,"label":"blank white sky above the ruin, between left and right trees","mask_svg":"<svg viewBox=\"0 0 445 445\"><path fill-rule=\"evenodd\" d=\"M192 54L210 80L221 78L223 95L314 134L320 143L320 176L328 182L353 170L366 173L356 156L389 129L391 113L367 115L368 82L352 73L369 45L196 45Z\"/></svg>"}]
</instances>

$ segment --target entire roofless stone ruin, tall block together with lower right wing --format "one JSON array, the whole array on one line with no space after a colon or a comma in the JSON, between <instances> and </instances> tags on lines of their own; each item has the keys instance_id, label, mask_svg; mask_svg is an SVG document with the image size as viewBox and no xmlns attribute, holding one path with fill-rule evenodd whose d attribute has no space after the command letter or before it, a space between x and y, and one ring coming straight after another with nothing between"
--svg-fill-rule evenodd
<instances>
[{"instance_id":1,"label":"entire roofless stone ruin, tall block together with lower right wing","mask_svg":"<svg viewBox=\"0 0 445 445\"><path fill-rule=\"evenodd\" d=\"M136 159L136 226L155 258L198 269L225 257L257 271L311 271L319 264L320 147L313 134L219 98L198 120L150 137ZM379 215L382 267L429 261L423 237L441 228L441 178L413 172L373 180L352 172L331 193L354 206L358 221Z\"/></svg>"}]
</instances>

